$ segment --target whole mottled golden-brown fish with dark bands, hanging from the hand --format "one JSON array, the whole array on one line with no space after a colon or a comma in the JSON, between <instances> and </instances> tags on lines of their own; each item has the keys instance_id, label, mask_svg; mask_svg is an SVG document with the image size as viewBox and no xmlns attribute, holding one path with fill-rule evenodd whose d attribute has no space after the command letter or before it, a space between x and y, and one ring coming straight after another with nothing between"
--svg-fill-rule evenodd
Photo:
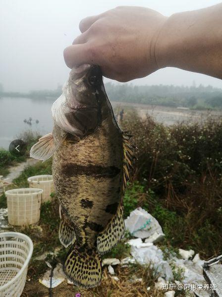
<instances>
[{"instance_id":1,"label":"whole mottled golden-brown fish with dark bands, hanging from the hand","mask_svg":"<svg viewBox=\"0 0 222 297\"><path fill-rule=\"evenodd\" d=\"M53 132L39 139L30 157L53 156L59 239L69 246L63 271L75 285L92 288L102 279L101 254L124 235L132 135L118 126L97 65L71 70L52 116Z\"/></svg>"}]
</instances>

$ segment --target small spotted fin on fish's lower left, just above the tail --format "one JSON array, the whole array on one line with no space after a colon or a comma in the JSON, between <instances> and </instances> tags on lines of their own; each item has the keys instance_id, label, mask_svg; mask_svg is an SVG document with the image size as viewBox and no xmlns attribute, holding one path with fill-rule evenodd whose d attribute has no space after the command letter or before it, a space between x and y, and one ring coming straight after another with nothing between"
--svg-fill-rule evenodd
<instances>
[{"instance_id":1,"label":"small spotted fin on fish's lower left, just above the tail","mask_svg":"<svg viewBox=\"0 0 222 297\"><path fill-rule=\"evenodd\" d=\"M65 214L63 213L61 206L59 205L60 225L58 230L58 237L64 247L69 246L76 240L75 231Z\"/></svg>"}]
</instances>

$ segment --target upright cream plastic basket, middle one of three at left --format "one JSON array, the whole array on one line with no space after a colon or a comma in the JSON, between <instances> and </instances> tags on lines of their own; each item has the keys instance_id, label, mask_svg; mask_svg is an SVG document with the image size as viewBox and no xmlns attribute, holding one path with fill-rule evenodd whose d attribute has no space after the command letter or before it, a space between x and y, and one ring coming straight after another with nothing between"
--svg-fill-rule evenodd
<instances>
[{"instance_id":1,"label":"upright cream plastic basket, middle one of three at left","mask_svg":"<svg viewBox=\"0 0 222 297\"><path fill-rule=\"evenodd\" d=\"M6 191L8 223L14 226L38 223L42 194L43 190L38 188L22 188Z\"/></svg>"}]
</instances>

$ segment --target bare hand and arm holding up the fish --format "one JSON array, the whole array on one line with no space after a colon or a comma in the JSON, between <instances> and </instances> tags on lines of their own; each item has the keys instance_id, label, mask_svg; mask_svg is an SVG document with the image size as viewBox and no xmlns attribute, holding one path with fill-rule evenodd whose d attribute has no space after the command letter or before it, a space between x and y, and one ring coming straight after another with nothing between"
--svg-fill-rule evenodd
<instances>
[{"instance_id":1,"label":"bare hand and arm holding up the fish","mask_svg":"<svg viewBox=\"0 0 222 297\"><path fill-rule=\"evenodd\" d=\"M170 17L120 6L79 27L82 34L64 50L70 68L98 64L105 76L122 82L167 66L222 78L222 3Z\"/></svg>"}]
</instances>

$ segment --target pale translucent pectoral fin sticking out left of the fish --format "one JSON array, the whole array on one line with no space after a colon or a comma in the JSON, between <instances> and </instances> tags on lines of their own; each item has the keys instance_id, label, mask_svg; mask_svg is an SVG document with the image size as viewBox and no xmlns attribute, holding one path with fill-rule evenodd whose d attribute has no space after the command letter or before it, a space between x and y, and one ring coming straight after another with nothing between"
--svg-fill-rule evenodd
<instances>
[{"instance_id":1,"label":"pale translucent pectoral fin sticking out left of the fish","mask_svg":"<svg viewBox=\"0 0 222 297\"><path fill-rule=\"evenodd\" d=\"M46 161L52 157L55 150L55 144L52 132L39 138L39 141L31 147L30 157Z\"/></svg>"}]
</instances>

